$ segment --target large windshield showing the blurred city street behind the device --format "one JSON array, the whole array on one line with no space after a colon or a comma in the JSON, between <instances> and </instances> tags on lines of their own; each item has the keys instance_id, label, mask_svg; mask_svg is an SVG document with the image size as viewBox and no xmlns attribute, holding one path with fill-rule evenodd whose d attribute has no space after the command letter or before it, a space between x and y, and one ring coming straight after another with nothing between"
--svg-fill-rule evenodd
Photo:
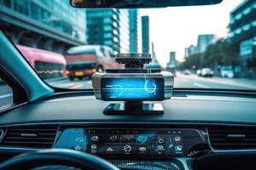
<instances>
[{"instance_id":1,"label":"large windshield showing the blurred city street behind the device","mask_svg":"<svg viewBox=\"0 0 256 170\"><path fill-rule=\"evenodd\" d=\"M256 90L256 2L85 9L69 0L0 0L0 26L50 86L88 89L115 54L149 53L174 88Z\"/></svg>"}]
</instances>

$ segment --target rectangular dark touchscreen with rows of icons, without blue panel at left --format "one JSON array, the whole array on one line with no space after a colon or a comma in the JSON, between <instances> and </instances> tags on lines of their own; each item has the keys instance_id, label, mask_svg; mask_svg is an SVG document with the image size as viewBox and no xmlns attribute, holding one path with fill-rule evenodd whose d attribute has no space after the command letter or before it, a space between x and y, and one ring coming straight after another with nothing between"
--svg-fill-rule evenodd
<instances>
[{"instance_id":1,"label":"rectangular dark touchscreen with rows of icons, without blue panel at left","mask_svg":"<svg viewBox=\"0 0 256 170\"><path fill-rule=\"evenodd\" d=\"M179 130L87 129L87 152L97 155L177 156L183 154Z\"/></svg>"}]
</instances>

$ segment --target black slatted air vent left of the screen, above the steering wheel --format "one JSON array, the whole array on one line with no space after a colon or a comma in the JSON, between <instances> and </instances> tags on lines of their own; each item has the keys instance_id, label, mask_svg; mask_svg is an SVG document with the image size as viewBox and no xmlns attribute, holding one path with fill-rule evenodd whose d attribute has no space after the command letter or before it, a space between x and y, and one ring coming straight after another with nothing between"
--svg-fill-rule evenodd
<instances>
[{"instance_id":1,"label":"black slatted air vent left of the screen, above the steering wheel","mask_svg":"<svg viewBox=\"0 0 256 170\"><path fill-rule=\"evenodd\" d=\"M57 125L9 127L1 145L25 148L51 148L58 130Z\"/></svg>"}]
</instances>

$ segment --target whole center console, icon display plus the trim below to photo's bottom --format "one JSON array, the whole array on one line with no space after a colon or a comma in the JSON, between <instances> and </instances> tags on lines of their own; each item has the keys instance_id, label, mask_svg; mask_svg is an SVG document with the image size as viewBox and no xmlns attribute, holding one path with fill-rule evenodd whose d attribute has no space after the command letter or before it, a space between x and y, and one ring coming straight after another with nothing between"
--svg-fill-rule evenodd
<instances>
[{"instance_id":1,"label":"whole center console, icon display plus the trim below to photo's bottom","mask_svg":"<svg viewBox=\"0 0 256 170\"><path fill-rule=\"evenodd\" d=\"M101 156L123 170L186 170L189 153L207 144L201 129L193 128L61 127L60 132L54 148Z\"/></svg>"}]
</instances>

